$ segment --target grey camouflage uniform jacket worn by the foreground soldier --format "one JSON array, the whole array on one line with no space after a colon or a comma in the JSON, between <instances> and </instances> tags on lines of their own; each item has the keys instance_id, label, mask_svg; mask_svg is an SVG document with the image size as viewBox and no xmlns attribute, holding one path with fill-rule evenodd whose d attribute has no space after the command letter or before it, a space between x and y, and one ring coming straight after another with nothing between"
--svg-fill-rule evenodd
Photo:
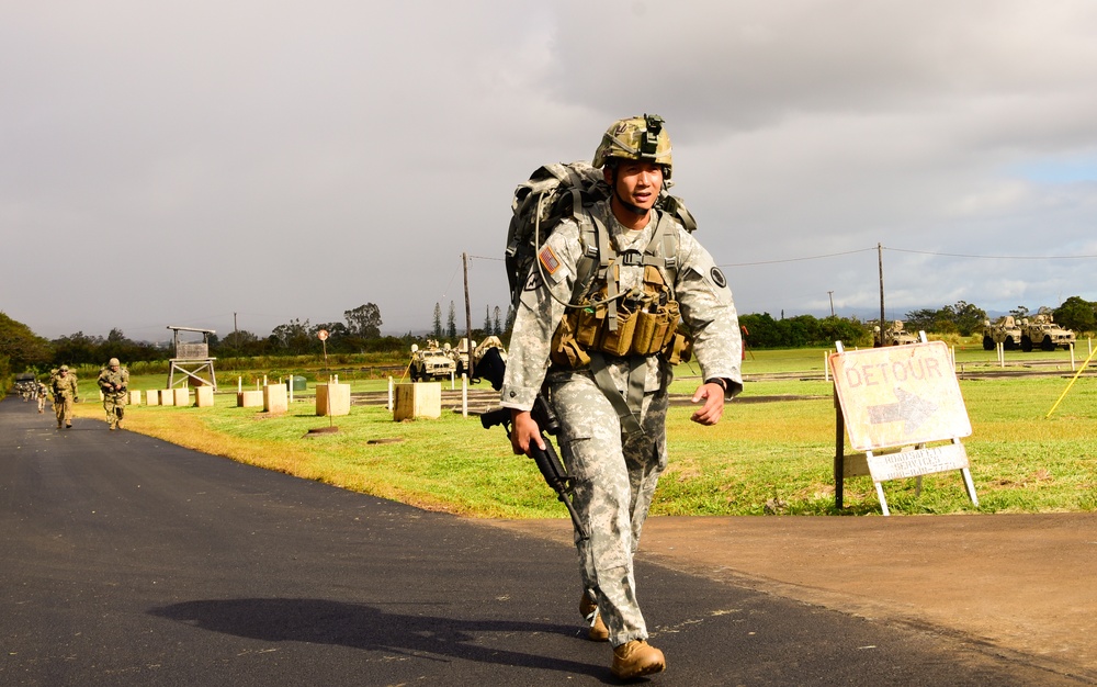
<instances>
[{"instance_id":1,"label":"grey camouflage uniform jacket worn by the foreground soldier","mask_svg":"<svg viewBox=\"0 0 1097 687\"><path fill-rule=\"evenodd\" d=\"M653 211L647 226L633 232L617 221L609 202L596 203L591 212L598 213L606 223L619 254L624 250L643 251L651 241L658 221ZM712 256L681 225L677 225L676 229L678 267L672 284L674 295L681 308L682 319L693 329L693 356L701 365L703 379L727 380L727 398L731 398L743 388L743 340L732 292ZM570 218L562 221L545 240L545 245L558 258L559 267L551 274L545 271L546 284L541 279L538 264L533 264L516 314L501 391L501 404L519 410L529 410L533 406L533 399L541 390L546 373L550 381L566 379L570 374L591 374L589 369L570 370L555 364L548 367L552 336L564 316L565 307L547 292L552 290L552 294L564 302L572 299L572 289L577 279L576 264L585 250L578 224ZM643 274L643 266L621 264L621 291L641 285ZM608 357L606 361L618 388L626 388L629 359ZM648 356L645 363L645 392L666 390L672 376L670 364L658 354Z\"/></svg>"}]
</instances>

